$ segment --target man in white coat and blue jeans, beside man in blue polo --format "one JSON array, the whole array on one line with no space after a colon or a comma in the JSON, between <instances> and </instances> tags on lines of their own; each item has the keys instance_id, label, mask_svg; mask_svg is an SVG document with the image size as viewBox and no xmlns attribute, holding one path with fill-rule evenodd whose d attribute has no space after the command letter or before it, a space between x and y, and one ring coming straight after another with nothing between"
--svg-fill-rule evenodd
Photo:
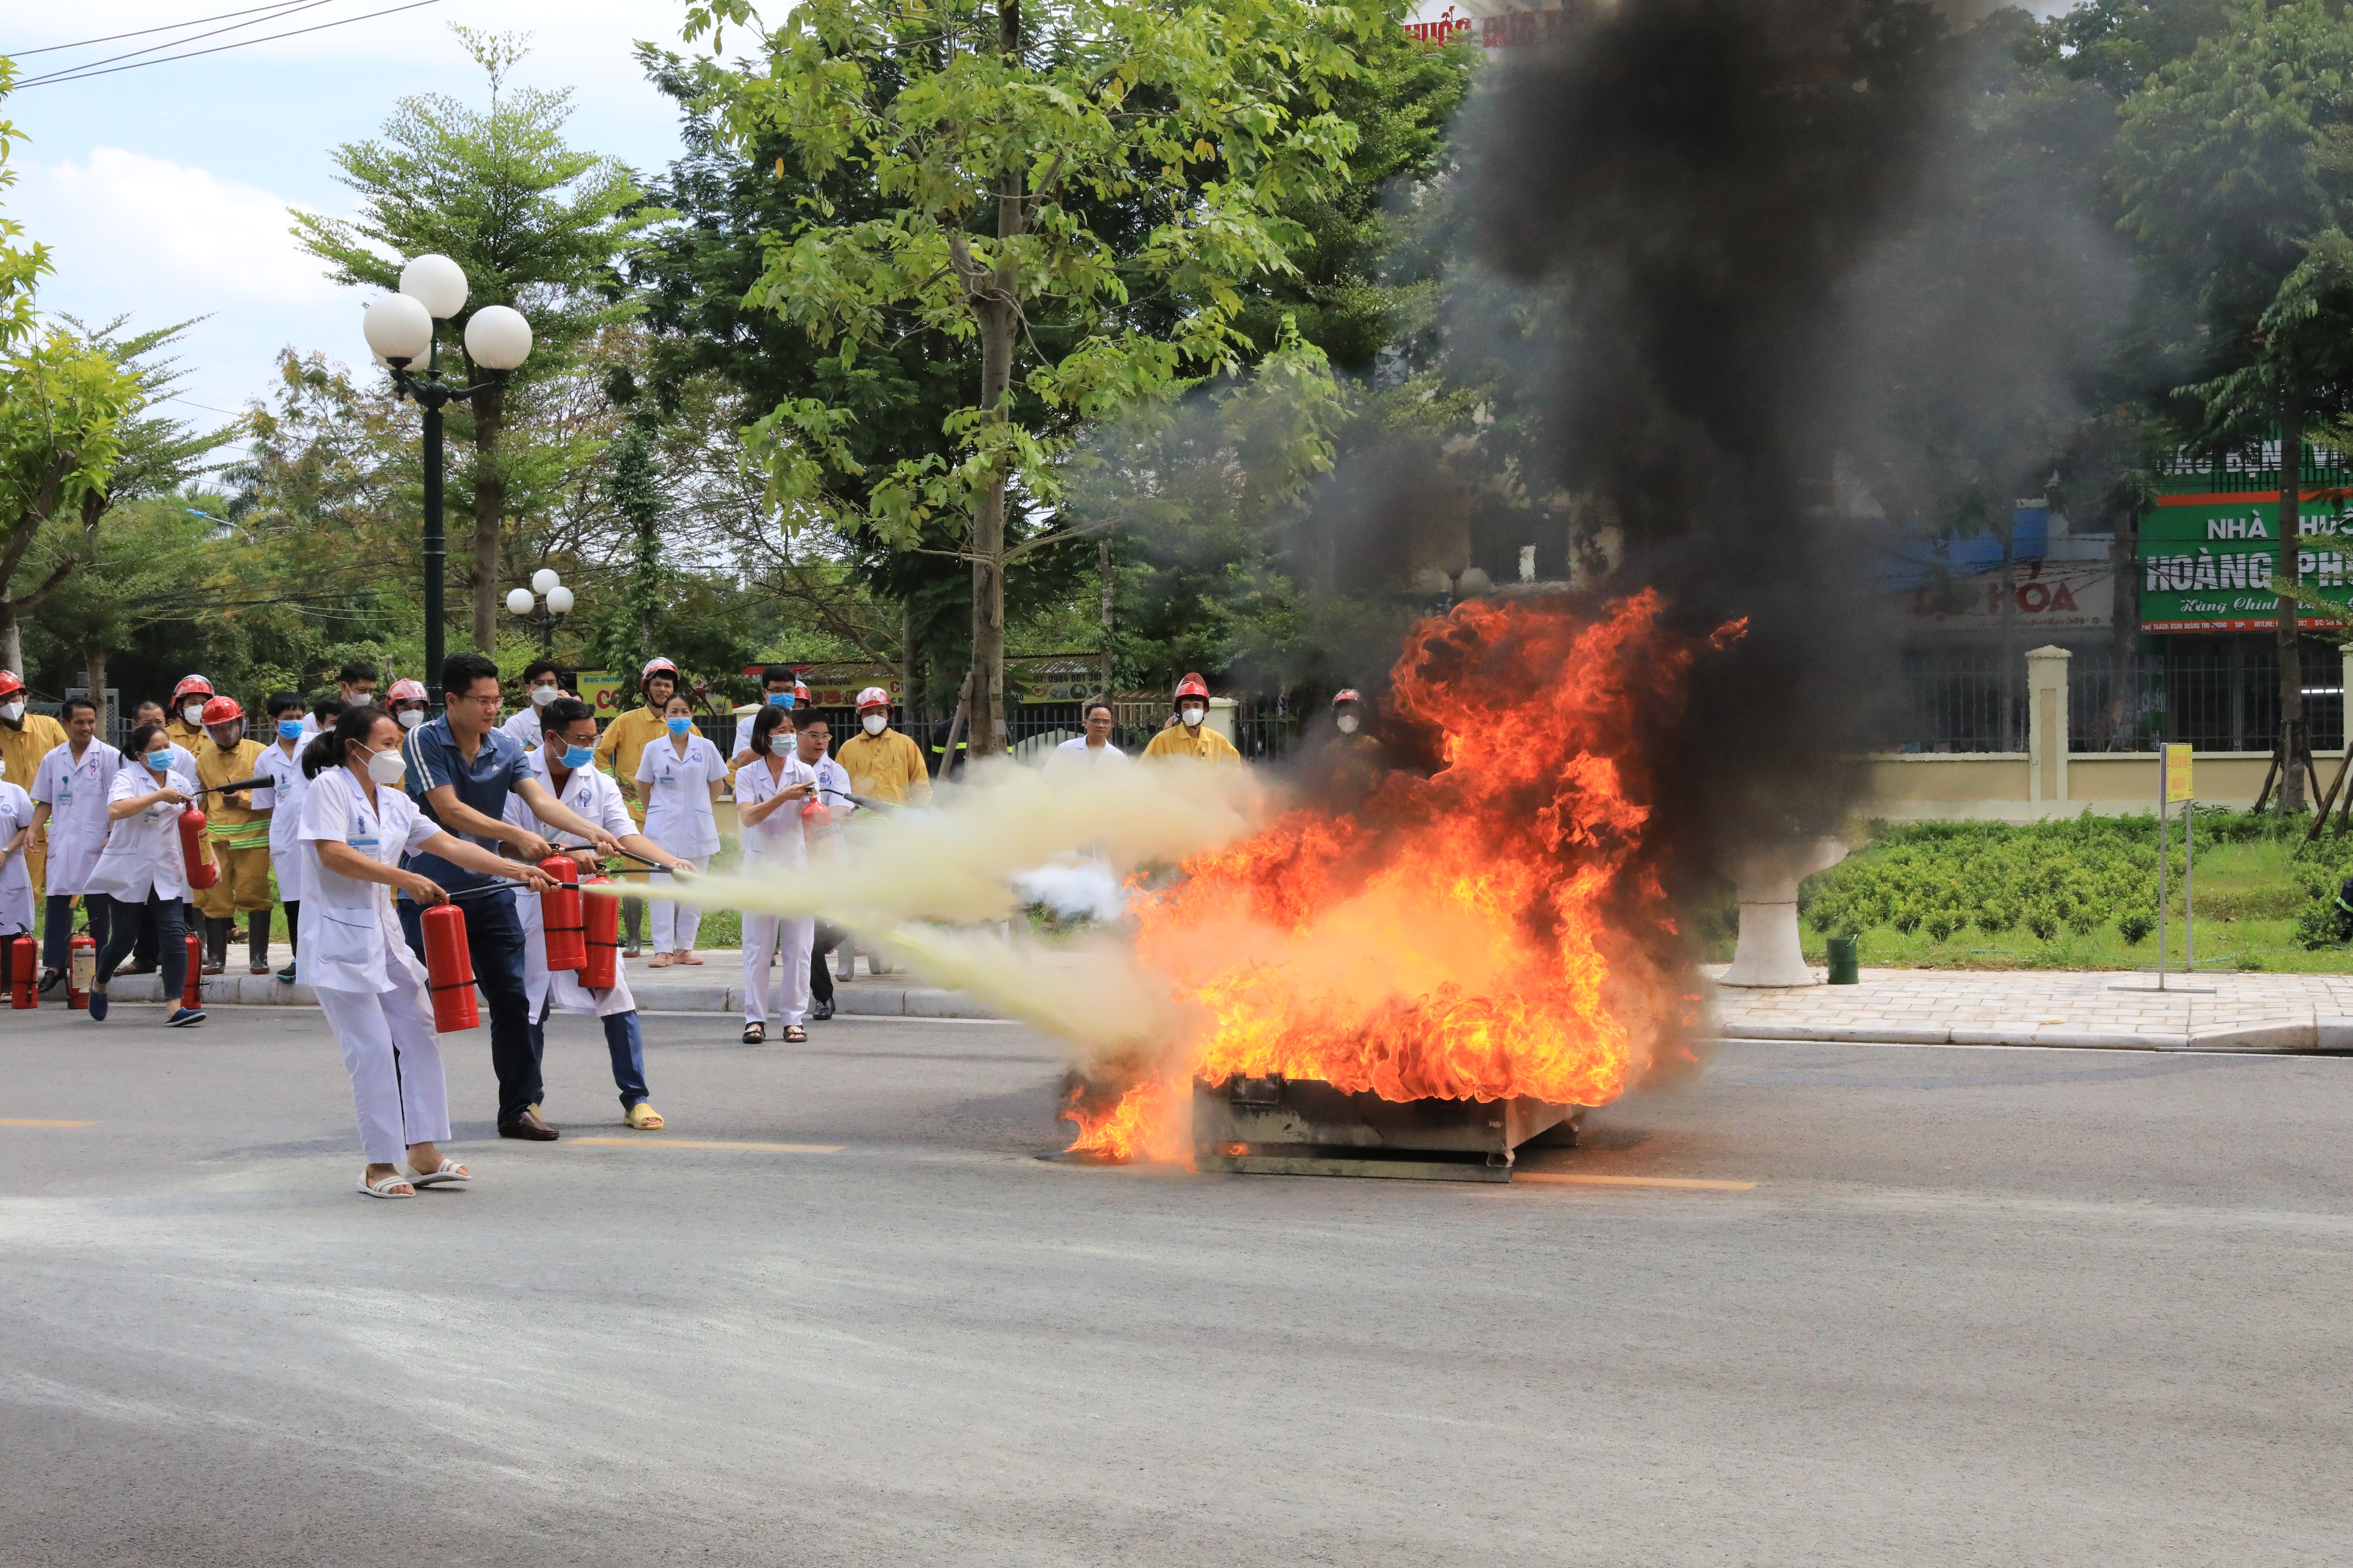
<instances>
[{"instance_id":1,"label":"man in white coat and blue jeans, beside man in blue polo","mask_svg":"<svg viewBox=\"0 0 2353 1568\"><path fill-rule=\"evenodd\" d=\"M628 820L621 790L595 769L595 710L588 703L569 696L555 698L541 710L541 731L544 741L529 762L548 795L574 816L588 818L621 839L621 849L628 853L668 867L687 865L685 858L638 832L638 825ZM541 823L520 792L506 797L506 820L569 853L584 875L602 863L602 856L579 835ZM640 1131L659 1128L661 1112L647 1103L652 1091L645 1084L645 1032L638 1027L638 999L628 992L628 971L614 966L612 990L593 992L581 985L576 971L548 969L548 931L536 893L515 893L515 917L522 922L522 990L532 1004L532 1048L539 1053L546 1048L541 1030L551 1006L600 1018L605 1051L612 1056L612 1081L621 1091L621 1121Z\"/></svg>"}]
</instances>

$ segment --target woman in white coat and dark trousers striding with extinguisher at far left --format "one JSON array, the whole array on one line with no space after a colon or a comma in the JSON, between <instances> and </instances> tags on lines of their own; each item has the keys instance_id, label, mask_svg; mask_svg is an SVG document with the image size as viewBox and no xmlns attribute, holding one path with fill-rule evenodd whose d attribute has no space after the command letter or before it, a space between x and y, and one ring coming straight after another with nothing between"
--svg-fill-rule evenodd
<instances>
[{"instance_id":1,"label":"woman in white coat and dark trousers striding with extinguisher at far left","mask_svg":"<svg viewBox=\"0 0 2353 1568\"><path fill-rule=\"evenodd\" d=\"M106 985L148 926L155 929L162 999L172 1009L165 1023L174 1030L205 1023L205 1009L179 1004L188 980L188 931L181 919L188 860L179 839L179 816L195 799L195 773L179 771L176 750L162 724L141 724L132 731L122 766L106 790L111 827L85 886L87 893L113 900L113 929L106 933L96 978L89 983L89 1023L106 1023Z\"/></svg>"}]
</instances>

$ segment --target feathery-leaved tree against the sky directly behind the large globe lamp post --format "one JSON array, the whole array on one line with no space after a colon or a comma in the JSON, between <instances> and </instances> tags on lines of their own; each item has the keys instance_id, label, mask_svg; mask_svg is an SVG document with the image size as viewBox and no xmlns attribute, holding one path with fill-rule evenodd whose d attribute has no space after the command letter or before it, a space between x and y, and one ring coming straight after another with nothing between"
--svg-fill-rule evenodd
<instances>
[{"instance_id":1,"label":"feathery-leaved tree against the sky directly behind the large globe lamp post","mask_svg":"<svg viewBox=\"0 0 2353 1568\"><path fill-rule=\"evenodd\" d=\"M489 108L440 94L400 99L381 141L334 150L341 181L360 193L360 216L296 212L294 237L327 263L332 280L376 289L395 287L412 256L449 256L471 289L466 310L452 317L459 334L482 306L515 306L532 320L525 369L487 376L466 362L478 390L452 418L452 435L473 447L473 463L456 475L473 503L473 644L494 651L515 480L515 463L501 454L508 404L529 383L560 376L591 336L638 310L619 266L664 214L645 202L624 165L565 143L569 89L506 89L525 54L522 38L454 31L489 78ZM593 461L595 449L565 458L572 473Z\"/></svg>"}]
</instances>

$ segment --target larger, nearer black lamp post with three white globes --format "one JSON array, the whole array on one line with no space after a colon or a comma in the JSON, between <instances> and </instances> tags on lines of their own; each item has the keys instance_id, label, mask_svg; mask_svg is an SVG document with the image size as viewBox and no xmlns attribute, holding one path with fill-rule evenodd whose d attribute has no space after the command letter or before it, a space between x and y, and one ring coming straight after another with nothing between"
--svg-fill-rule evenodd
<instances>
[{"instance_id":1,"label":"larger, nearer black lamp post with three white globes","mask_svg":"<svg viewBox=\"0 0 2353 1568\"><path fill-rule=\"evenodd\" d=\"M400 268L400 292L367 308L360 329L367 346L393 371L393 395L414 397L426 416L426 696L440 708L442 665L442 404L496 386L532 355L532 324L508 306L482 306L466 322L466 357L489 378L478 386L449 386L440 371L440 331L466 310L466 273L447 256L419 256ZM424 360L424 374L409 367Z\"/></svg>"}]
</instances>

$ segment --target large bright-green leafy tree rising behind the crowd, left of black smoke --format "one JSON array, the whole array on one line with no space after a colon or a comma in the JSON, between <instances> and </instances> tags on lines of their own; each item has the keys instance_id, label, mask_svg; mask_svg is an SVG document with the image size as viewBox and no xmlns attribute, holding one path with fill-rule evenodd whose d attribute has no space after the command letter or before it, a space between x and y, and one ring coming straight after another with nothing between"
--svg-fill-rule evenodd
<instances>
[{"instance_id":1,"label":"large bright-green leafy tree rising behind the crowd, left of black smoke","mask_svg":"<svg viewBox=\"0 0 2353 1568\"><path fill-rule=\"evenodd\" d=\"M748 21L748 0L708 0L687 38ZM814 197L746 301L842 369L911 327L958 350L972 393L944 421L951 451L896 461L861 501L835 484L864 470L852 409L791 400L758 435L798 520L899 548L948 524L972 564L984 743L1005 736L1007 569L1064 538L1009 543L1007 510L1059 503L1082 421L1249 364L1240 287L1297 270L1282 200L1346 179L1332 82L1379 26L1372 0L809 0L765 35L765 71L704 63L736 139L781 134L807 176L859 169L885 202L845 223ZM1271 355L1327 374L1297 336Z\"/></svg>"}]
</instances>

